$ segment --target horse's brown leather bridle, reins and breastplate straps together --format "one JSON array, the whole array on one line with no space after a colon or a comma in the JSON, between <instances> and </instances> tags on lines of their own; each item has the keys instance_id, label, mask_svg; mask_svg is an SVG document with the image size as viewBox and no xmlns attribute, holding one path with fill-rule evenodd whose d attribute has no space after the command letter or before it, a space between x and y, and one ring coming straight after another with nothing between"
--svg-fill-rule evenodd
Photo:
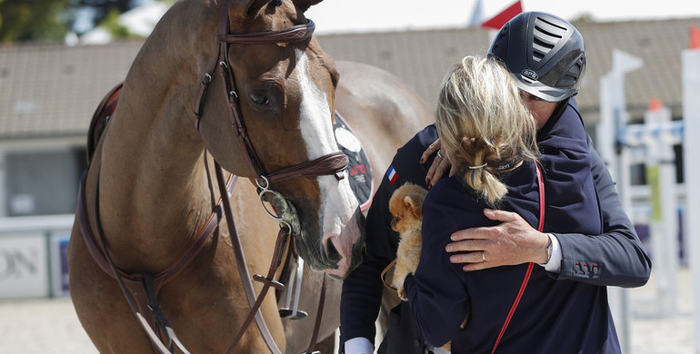
<instances>
[{"instance_id":1,"label":"horse's brown leather bridle, reins and breastplate straps together","mask_svg":"<svg viewBox=\"0 0 700 354\"><path fill-rule=\"evenodd\" d=\"M233 353L236 345L243 337L245 330L254 319L260 333L265 339L268 349L270 349L270 352L275 354L282 352L275 344L275 339L273 339L272 334L267 328L259 308L262 305L265 295L270 287L274 287L276 290L285 289L285 285L276 281L274 276L280 263L280 257L284 251L283 249L285 244L288 243L290 234L298 235L300 233L300 223L298 222L298 217L295 214L292 204L287 202L281 193L270 189L270 185L274 182L321 175L335 175L335 177L340 180L343 178L342 172L345 170L345 167L348 164L347 156L343 152L333 152L309 162L302 162L295 166L287 167L271 173L265 172L263 163L260 161L257 153L255 152L253 143L251 142L247 130L245 129L243 116L238 104L235 76L228 58L229 44L298 43L311 38L315 30L315 25L311 20L309 20L305 25L295 25L278 31L229 34L228 9L233 2L234 0L226 0L224 5L221 6L216 35L216 41L219 43L218 56L213 68L205 74L205 78L201 82L201 87L195 103L195 125L198 130L199 123L203 117L202 109L208 87L212 81L212 74L216 68L219 68L219 74L221 74L225 83L227 108L231 118L234 134L242 148L242 151L245 152L245 157L251 171L255 175L255 182L257 184L260 201L263 203L264 208L265 202L270 202L272 204L274 211L269 211L267 208L265 208L265 211L273 219L279 222L280 227L280 231L278 232L277 239L275 241L273 259L270 261L270 268L267 275L263 276L255 274L255 276L252 277L254 280L261 281L263 283L263 288L260 290L258 296L255 297L255 290L253 289L253 283L247 270L241 241L235 228L233 208L230 202L230 196L234 191L237 176L231 175L229 176L228 182L225 182L224 171L218 162L215 162L215 175L219 193L222 197L216 203L215 209L210 214L205 226L198 233L198 236L190 244L190 246L183 253L181 253L176 261L174 261L169 267L155 274L145 272L127 273L123 270L119 270L115 266L115 263L112 261L112 257L105 246L107 244L105 233L102 230L99 218L99 172L97 175L98 182L95 196L97 237L95 237L95 232L93 232L92 228L90 227L90 221L86 208L87 201L85 199L85 184L87 172L84 173L80 185L77 213L79 226L81 228L81 233L83 234L87 249L97 265L104 270L105 273L117 280L119 286L125 294L125 298L129 303L129 306L135 313L136 319L145 330L148 339L150 339L155 352L162 354L175 352L175 346L184 353L188 353L188 351L185 349L185 346L180 342L180 340L177 339L175 330L172 329L168 321L165 319L165 315L163 314L157 301L158 293L165 283L175 279L175 277L185 270L187 265L189 265L195 259L199 251L202 251L207 241L212 238L215 231L218 229L218 224L222 217L225 217L226 219L226 224L235 252L236 265L239 270L238 273L241 277L245 296L250 306L250 311L245 317L243 325L226 349L226 353ZM207 176L209 176L208 168L206 169L206 172ZM209 178L211 179L211 177ZM97 239L99 239L100 243L97 243ZM316 313L315 328L309 347L306 350L307 353L312 352L315 346L316 337L318 335L325 300L325 283L326 276L324 275L318 310Z\"/></svg>"}]
</instances>

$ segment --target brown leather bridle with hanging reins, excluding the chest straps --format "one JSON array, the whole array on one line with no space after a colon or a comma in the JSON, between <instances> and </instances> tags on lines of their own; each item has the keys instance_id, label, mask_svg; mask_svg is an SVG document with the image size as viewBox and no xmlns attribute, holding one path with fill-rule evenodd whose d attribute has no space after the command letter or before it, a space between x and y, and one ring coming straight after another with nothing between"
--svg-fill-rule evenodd
<instances>
[{"instance_id":1,"label":"brown leather bridle with hanging reins, excluding the chest straps","mask_svg":"<svg viewBox=\"0 0 700 354\"><path fill-rule=\"evenodd\" d=\"M275 242L275 255L273 261L270 264L270 269L268 271L267 277L260 275L255 275L254 279L263 282L263 290L258 294L257 299L253 294L252 284L250 283L250 277L247 274L247 267L245 265L245 258L243 251L240 246L240 241L237 240L238 236L235 232L235 221L233 217L233 211L230 205L230 201L227 198L223 199L224 211L226 216L226 222L229 225L229 229L233 227L233 231L230 232L232 235L232 243L234 243L234 250L236 252L235 258L238 263L239 274L241 275L241 281L244 284L245 294L248 302L251 306L251 311L248 313L246 320L242 328L236 335L234 342L229 346L227 352L231 352L235 348L235 344L238 342L240 337L245 332L245 328L251 321L251 318L255 316L255 322L260 329L261 334L265 338L268 348L271 352L279 352L277 349L275 340L269 334L268 329L265 325L265 320L263 320L262 315L260 315L257 309L265 298L266 291L269 287L275 287L275 289L283 290L284 285L275 281L272 277L275 274L275 264L277 264L277 259L279 257L278 252L280 251L280 245L284 243L284 239L288 233L293 235L301 234L301 223L298 220L294 206L288 202L285 197L280 192L272 190L271 184L275 182L282 182L285 180L300 178L300 177L314 177L322 175L335 175L337 180L344 178L343 171L347 167L348 159L343 152L332 152L316 158L315 160L309 162L302 162L294 166L286 167L275 172L267 173L265 167L261 162L260 158L255 152L255 147L248 135L247 129L245 128L245 123L243 120L243 114L241 113L241 107L239 104L239 95L237 93L237 87L235 84L235 75L233 72L233 65L230 64L229 59L229 49L230 44L277 44L277 43L300 43L307 41L314 34L315 24L313 21L308 20L304 25L295 25L283 30L277 31L266 31L258 33L247 33L247 34L229 34L229 15L228 9L233 4L233 0L226 0L224 5L221 7L221 12L219 13L218 25L216 28L216 41L219 43L218 57L216 63L213 65L212 69L205 74L202 80L202 86L197 98L197 103L195 106L195 125L199 129L199 125L203 118L202 109L204 107L206 91L211 84L212 74L216 67L219 69L219 74L221 74L224 80L226 102L228 106L228 113L231 118L231 124L237 141L245 152L245 160L250 167L251 172L255 176L255 183L257 184L258 196L260 202L265 209L265 211L276 221L279 222L280 232L277 236L277 241ZM216 180L219 185L219 190L222 195L225 195L225 183L223 178L222 168L218 162L215 163ZM270 202L273 206L274 211L270 211L265 207L265 202ZM320 326L321 315L323 312L325 299L325 276L323 281L323 286L321 290L321 300L319 301L319 308L316 315L315 329L312 335L311 343L307 352L310 352L315 344L315 339L318 334L318 329Z\"/></svg>"}]
</instances>

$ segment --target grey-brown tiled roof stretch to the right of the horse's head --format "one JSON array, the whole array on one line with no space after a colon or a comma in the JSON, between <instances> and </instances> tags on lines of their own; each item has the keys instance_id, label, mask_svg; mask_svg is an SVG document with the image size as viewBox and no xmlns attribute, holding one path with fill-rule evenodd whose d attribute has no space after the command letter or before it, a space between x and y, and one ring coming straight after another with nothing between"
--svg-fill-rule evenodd
<instances>
[{"instance_id":1,"label":"grey-brown tiled roof stretch to the right of the horse's head","mask_svg":"<svg viewBox=\"0 0 700 354\"><path fill-rule=\"evenodd\" d=\"M625 75L628 110L641 117L649 99L656 98L680 115L681 52L688 48L691 26L700 26L700 18L574 25L585 38L587 56L584 82L576 99L589 120L597 120L600 78L612 70L614 49L645 63ZM485 55L491 35L481 28L460 28L325 35L319 36L319 42L335 60L361 61L398 74L432 107L449 67L464 55Z\"/></svg>"}]
</instances>

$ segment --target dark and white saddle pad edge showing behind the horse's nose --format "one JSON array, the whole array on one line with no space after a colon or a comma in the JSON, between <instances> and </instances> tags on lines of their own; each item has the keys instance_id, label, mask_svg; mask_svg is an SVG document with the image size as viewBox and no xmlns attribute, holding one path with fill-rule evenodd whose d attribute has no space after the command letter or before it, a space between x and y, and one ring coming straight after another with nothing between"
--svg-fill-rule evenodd
<instances>
[{"instance_id":1,"label":"dark and white saddle pad edge showing behind the horse's nose","mask_svg":"<svg viewBox=\"0 0 700 354\"><path fill-rule=\"evenodd\" d=\"M375 190L369 158L367 158L365 149L362 148L362 143L357 139L350 125L345 122L345 119L337 111L335 111L333 131L338 148L347 155L349 160L347 174L350 188L355 193L357 202L360 203L360 210L365 211L372 203Z\"/></svg>"}]
</instances>

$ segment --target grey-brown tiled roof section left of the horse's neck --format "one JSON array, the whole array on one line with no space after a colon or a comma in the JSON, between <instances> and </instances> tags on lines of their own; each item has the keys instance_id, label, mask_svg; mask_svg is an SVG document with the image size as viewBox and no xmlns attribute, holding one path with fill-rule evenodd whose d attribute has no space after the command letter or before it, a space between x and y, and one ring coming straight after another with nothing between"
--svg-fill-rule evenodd
<instances>
[{"instance_id":1,"label":"grey-brown tiled roof section left of the horse's neck","mask_svg":"<svg viewBox=\"0 0 700 354\"><path fill-rule=\"evenodd\" d=\"M0 46L0 139L85 135L142 44Z\"/></svg>"}]
</instances>

